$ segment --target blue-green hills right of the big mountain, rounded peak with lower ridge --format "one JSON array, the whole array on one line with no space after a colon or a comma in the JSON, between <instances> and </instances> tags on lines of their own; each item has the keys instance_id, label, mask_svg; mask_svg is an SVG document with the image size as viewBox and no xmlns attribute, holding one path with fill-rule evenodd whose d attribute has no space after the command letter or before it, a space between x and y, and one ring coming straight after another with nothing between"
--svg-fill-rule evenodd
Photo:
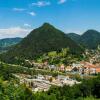
<instances>
[{"instance_id":1,"label":"blue-green hills right of the big mountain, rounded peak with lower ridge","mask_svg":"<svg viewBox=\"0 0 100 100\"><path fill-rule=\"evenodd\" d=\"M82 44L88 49L96 49L100 45L100 32L96 30L88 30L80 36L75 33L69 33L68 36L76 43Z\"/></svg>"}]
</instances>

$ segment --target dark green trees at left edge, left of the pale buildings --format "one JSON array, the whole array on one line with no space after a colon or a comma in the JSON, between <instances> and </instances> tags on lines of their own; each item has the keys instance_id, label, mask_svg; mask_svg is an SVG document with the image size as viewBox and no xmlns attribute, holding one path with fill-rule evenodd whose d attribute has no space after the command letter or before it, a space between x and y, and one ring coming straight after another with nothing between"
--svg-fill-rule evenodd
<instances>
[{"instance_id":1,"label":"dark green trees at left edge, left of the pale buildings","mask_svg":"<svg viewBox=\"0 0 100 100\"><path fill-rule=\"evenodd\" d=\"M31 70L26 67L8 65L0 62L0 77L3 80L11 80L13 78L13 73L23 73L23 74L31 74Z\"/></svg>"}]
</instances>

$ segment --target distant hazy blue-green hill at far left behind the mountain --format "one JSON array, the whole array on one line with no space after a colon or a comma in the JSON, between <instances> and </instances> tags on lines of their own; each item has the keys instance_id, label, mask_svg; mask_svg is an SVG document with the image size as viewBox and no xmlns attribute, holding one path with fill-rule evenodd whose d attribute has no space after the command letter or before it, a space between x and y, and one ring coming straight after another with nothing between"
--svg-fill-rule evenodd
<instances>
[{"instance_id":1,"label":"distant hazy blue-green hill at far left behind the mountain","mask_svg":"<svg viewBox=\"0 0 100 100\"><path fill-rule=\"evenodd\" d=\"M7 51L11 46L19 43L21 40L22 38L19 37L0 39L0 52Z\"/></svg>"}]
</instances>

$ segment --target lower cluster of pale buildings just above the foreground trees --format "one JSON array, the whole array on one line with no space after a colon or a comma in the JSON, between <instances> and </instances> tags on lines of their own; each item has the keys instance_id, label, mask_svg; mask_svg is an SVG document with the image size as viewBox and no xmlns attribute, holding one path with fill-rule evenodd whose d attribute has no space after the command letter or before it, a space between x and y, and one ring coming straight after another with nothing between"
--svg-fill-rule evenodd
<instances>
[{"instance_id":1,"label":"lower cluster of pale buildings just above the foreground trees","mask_svg":"<svg viewBox=\"0 0 100 100\"><path fill-rule=\"evenodd\" d=\"M20 84L25 84L27 87L31 88L33 92L48 91L51 86L73 86L74 84L81 83L64 75L58 75L57 77L41 74L34 75L33 77L26 74L13 75L20 80Z\"/></svg>"}]
</instances>

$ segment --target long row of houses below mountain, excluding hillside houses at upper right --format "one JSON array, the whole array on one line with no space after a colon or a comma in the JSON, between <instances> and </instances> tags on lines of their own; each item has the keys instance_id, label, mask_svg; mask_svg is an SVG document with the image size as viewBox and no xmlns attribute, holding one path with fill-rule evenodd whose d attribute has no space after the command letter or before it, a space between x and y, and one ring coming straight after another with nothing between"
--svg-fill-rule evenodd
<instances>
[{"instance_id":1,"label":"long row of houses below mountain, excluding hillside houses at upper right","mask_svg":"<svg viewBox=\"0 0 100 100\"><path fill-rule=\"evenodd\" d=\"M32 64L38 67L38 69L48 69L61 72L77 72L79 74L100 73L100 64L93 64L91 62L85 62L85 61L73 63L70 66L65 66L64 64L61 64L60 66L49 65L47 61L45 61L44 63L33 62Z\"/></svg>"}]
</instances>

